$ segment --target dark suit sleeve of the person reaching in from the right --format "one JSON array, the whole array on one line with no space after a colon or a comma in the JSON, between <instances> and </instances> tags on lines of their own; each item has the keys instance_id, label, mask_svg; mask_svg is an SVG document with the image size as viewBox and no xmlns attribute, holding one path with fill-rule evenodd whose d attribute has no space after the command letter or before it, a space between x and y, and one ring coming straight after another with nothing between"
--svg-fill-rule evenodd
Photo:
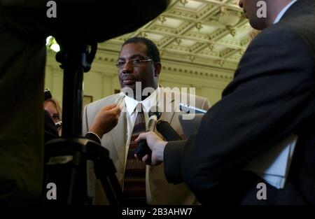
<instances>
[{"instance_id":1,"label":"dark suit sleeve of the person reaching in from the right","mask_svg":"<svg viewBox=\"0 0 315 219\"><path fill-rule=\"evenodd\" d=\"M235 179L314 111L314 72L307 43L288 29L271 27L251 42L223 98L183 149L181 176L197 197Z\"/></svg>"}]
</instances>

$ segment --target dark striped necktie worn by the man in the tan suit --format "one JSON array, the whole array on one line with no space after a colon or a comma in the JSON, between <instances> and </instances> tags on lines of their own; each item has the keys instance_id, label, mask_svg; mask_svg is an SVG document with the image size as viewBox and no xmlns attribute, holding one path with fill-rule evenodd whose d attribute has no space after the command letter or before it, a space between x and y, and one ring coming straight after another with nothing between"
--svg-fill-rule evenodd
<instances>
[{"instance_id":1,"label":"dark striped necktie worn by the man in the tan suit","mask_svg":"<svg viewBox=\"0 0 315 219\"><path fill-rule=\"evenodd\" d=\"M139 134L146 132L146 119L142 104L137 105L137 111L127 154L123 193L127 204L144 205L146 204L146 164L134 158L137 148L137 143L134 140Z\"/></svg>"}]
</instances>

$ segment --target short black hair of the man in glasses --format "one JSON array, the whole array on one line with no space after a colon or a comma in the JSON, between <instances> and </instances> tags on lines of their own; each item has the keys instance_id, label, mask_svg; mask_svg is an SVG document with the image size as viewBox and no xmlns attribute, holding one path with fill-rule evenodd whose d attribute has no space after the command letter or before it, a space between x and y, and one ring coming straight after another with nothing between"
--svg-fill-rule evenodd
<instances>
[{"instance_id":1,"label":"short black hair of the man in glasses","mask_svg":"<svg viewBox=\"0 0 315 219\"><path fill-rule=\"evenodd\" d=\"M122 48L124 45L129 43L143 43L146 45L146 55L154 60L154 62L160 62L160 51L158 47L153 43L153 41L149 40L148 38L135 36L132 38L128 38L122 45Z\"/></svg>"}]
</instances>

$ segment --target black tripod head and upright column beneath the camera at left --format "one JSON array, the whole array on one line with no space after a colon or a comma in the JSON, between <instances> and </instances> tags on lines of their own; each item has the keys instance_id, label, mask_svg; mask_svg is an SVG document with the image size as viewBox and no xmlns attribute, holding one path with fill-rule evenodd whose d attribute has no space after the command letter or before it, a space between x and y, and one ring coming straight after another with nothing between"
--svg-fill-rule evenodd
<instances>
[{"instance_id":1,"label":"black tripod head and upright column beneath the camera at left","mask_svg":"<svg viewBox=\"0 0 315 219\"><path fill-rule=\"evenodd\" d=\"M64 69L62 136L81 136L83 73L91 69L97 43L83 45L61 41L60 48L56 59L61 63L60 67Z\"/></svg>"}]
</instances>

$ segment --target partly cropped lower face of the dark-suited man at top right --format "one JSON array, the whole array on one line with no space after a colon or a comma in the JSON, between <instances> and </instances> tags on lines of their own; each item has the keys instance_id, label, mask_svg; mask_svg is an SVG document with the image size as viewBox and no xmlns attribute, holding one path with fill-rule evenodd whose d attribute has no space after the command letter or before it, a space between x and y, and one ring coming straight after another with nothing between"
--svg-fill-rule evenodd
<instances>
[{"instance_id":1,"label":"partly cropped lower face of the dark-suited man at top right","mask_svg":"<svg viewBox=\"0 0 315 219\"><path fill-rule=\"evenodd\" d=\"M251 27L255 29L265 29L267 27L265 17L257 16L257 2L260 0L239 0L239 7L243 8L246 17L251 24ZM265 0L267 2L267 0Z\"/></svg>"}]
</instances>

